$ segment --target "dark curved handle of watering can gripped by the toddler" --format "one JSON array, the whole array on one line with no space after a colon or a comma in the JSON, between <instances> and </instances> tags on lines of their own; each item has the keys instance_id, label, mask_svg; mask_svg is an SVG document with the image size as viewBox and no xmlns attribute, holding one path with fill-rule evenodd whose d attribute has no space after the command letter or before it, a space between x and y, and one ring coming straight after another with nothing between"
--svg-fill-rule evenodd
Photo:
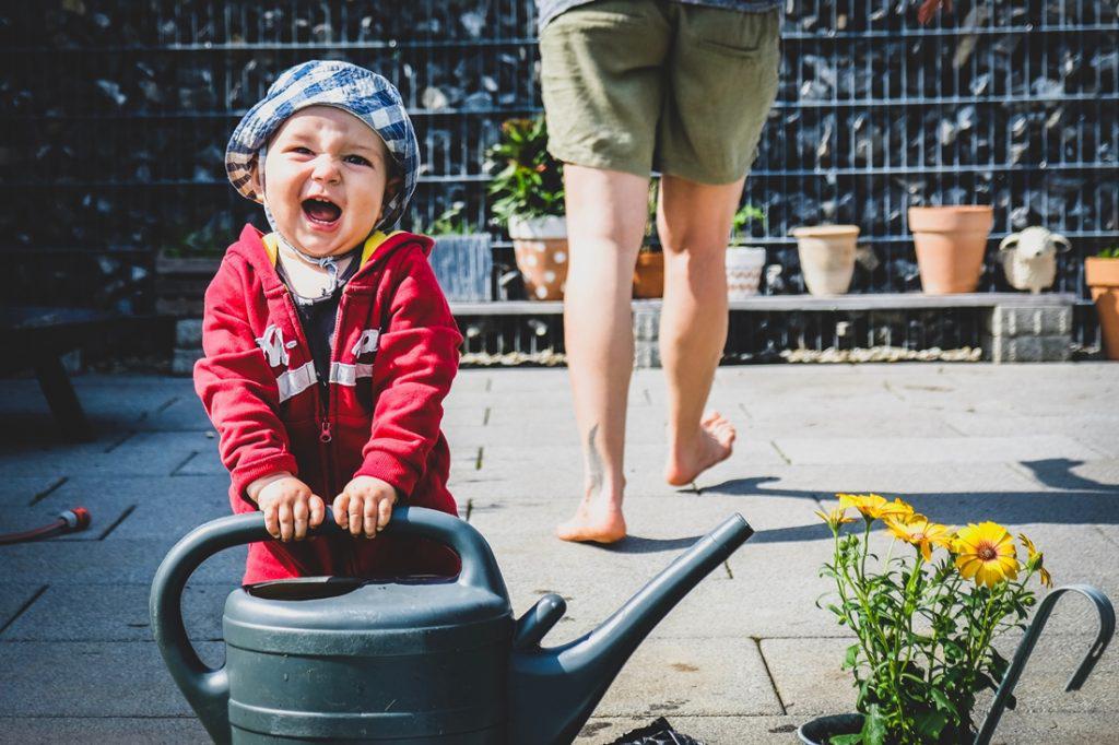
<instances>
[{"instance_id":1,"label":"dark curved handle of watering can gripped by the toddler","mask_svg":"<svg viewBox=\"0 0 1119 745\"><path fill-rule=\"evenodd\" d=\"M452 548L462 560L458 583L507 596L505 582L489 545L459 518L422 507L397 507L385 529L388 534L430 538ZM342 534L330 518L312 534ZM229 679L225 668L214 670L199 658L182 624L182 590L198 566L214 554L234 546L272 540L260 512L213 520L187 534L163 558L151 585L151 628L171 677L198 714L210 737L229 741Z\"/></svg>"}]
</instances>

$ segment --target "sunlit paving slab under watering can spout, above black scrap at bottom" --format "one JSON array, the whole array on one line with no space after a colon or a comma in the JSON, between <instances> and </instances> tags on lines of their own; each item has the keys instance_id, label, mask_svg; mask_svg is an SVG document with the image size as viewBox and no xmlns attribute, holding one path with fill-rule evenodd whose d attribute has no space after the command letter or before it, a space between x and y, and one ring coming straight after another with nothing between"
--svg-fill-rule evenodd
<instances>
[{"instance_id":1,"label":"sunlit paving slab under watering can spout, above black scrap at bottom","mask_svg":"<svg viewBox=\"0 0 1119 745\"><path fill-rule=\"evenodd\" d=\"M781 705L750 640L649 639L618 676L598 716L775 715Z\"/></svg>"}]
</instances>

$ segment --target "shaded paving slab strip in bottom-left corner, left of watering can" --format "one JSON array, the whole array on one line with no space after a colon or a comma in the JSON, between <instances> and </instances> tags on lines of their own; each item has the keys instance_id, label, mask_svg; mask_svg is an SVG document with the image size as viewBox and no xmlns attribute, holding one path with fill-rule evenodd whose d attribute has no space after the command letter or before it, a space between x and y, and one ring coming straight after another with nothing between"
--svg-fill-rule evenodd
<instances>
[{"instance_id":1,"label":"shaded paving slab strip in bottom-left corner, left of watering can","mask_svg":"<svg viewBox=\"0 0 1119 745\"><path fill-rule=\"evenodd\" d=\"M194 717L0 717L4 739L26 745L115 743L197 745L208 739Z\"/></svg>"}]
</instances>

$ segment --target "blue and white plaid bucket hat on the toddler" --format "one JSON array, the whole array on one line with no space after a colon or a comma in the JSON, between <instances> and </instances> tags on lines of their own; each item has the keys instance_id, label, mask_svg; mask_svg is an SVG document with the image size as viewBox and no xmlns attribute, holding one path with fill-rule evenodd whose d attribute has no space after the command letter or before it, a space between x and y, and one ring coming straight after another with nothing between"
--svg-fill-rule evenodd
<instances>
[{"instance_id":1,"label":"blue and white plaid bucket hat on the toddler","mask_svg":"<svg viewBox=\"0 0 1119 745\"><path fill-rule=\"evenodd\" d=\"M404 185L385 205L374 229L395 224L416 188L420 143L396 87L383 76L350 63L312 59L281 73L229 138L225 149L229 182L248 199L262 201L251 179L257 155L289 116L308 106L347 111L385 141L389 154L401 166Z\"/></svg>"}]
</instances>

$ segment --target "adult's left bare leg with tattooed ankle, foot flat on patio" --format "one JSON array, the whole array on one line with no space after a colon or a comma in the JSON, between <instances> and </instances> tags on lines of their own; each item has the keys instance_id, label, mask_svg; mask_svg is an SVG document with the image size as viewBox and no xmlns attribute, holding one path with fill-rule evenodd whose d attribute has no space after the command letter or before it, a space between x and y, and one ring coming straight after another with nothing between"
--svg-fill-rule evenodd
<instances>
[{"instance_id":1,"label":"adult's left bare leg with tattooed ankle, foot flat on patio","mask_svg":"<svg viewBox=\"0 0 1119 745\"><path fill-rule=\"evenodd\" d=\"M583 445L583 500L556 528L564 540L626 537L626 404L633 369L633 265L645 233L649 179L564 166L571 265L564 342Z\"/></svg>"}]
</instances>

